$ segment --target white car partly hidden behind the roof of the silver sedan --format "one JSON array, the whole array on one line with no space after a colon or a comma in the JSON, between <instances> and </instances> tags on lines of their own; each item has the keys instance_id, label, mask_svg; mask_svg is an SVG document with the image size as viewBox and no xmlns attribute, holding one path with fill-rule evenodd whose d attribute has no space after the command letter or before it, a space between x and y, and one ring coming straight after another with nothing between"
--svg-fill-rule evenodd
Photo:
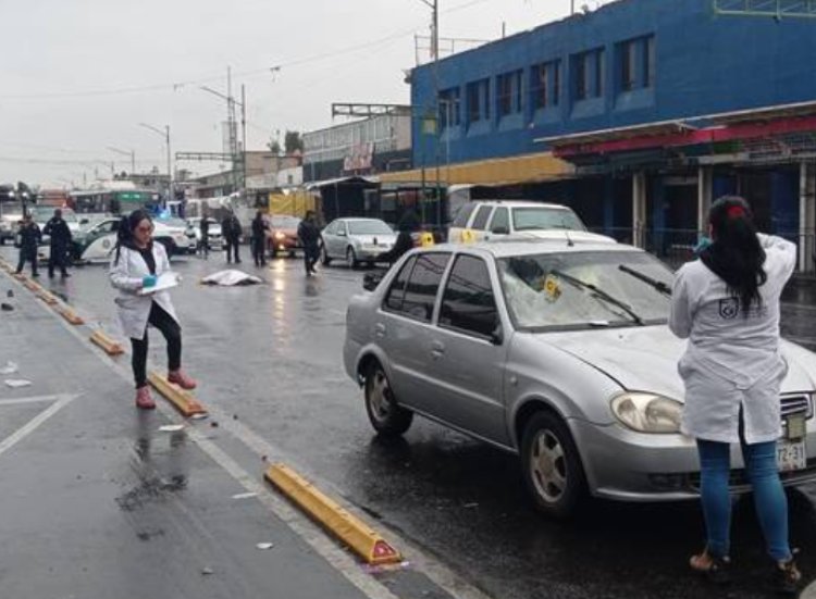
<instances>
[{"instance_id":1,"label":"white car partly hidden behind the roof of the silver sedan","mask_svg":"<svg viewBox=\"0 0 816 599\"><path fill-rule=\"evenodd\" d=\"M512 237L615 244L586 230L572 209L556 203L477 200L463 204L448 229L453 244Z\"/></svg>"}]
</instances>

